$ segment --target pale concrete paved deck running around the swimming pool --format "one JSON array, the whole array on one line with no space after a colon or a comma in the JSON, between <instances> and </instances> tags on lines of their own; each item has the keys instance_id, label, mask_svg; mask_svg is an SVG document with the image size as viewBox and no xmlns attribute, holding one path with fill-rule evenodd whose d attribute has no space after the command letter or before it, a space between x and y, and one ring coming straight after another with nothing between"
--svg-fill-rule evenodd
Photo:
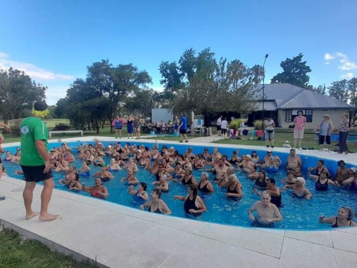
<instances>
[{"instance_id":1,"label":"pale concrete paved deck running around the swimming pool","mask_svg":"<svg viewBox=\"0 0 357 268\"><path fill-rule=\"evenodd\" d=\"M113 140L110 137L100 139ZM79 138L62 140L69 142ZM143 139L142 142L153 140ZM266 149L201 142L188 144ZM14 145L18 143L5 144ZM274 150L288 152L286 148ZM298 151L302 153L356 163L355 154ZM144 212L57 189L54 189L50 212L59 213L61 219L39 222L38 218L24 220L22 192L12 191L19 187L24 187L24 181L1 178L0 194L6 199L0 202L0 221L5 227L78 259L96 258L103 267L357 266L357 228L291 231L235 227ZM40 208L41 190L42 186L37 185L33 202L36 210Z\"/></svg>"}]
</instances>

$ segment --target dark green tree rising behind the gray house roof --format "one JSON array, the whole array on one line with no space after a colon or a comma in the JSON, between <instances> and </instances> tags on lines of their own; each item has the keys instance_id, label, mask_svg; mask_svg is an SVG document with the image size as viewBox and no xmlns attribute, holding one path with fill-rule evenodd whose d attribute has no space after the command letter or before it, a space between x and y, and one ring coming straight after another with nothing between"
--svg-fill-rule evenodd
<instances>
[{"instance_id":1,"label":"dark green tree rising behind the gray house roof","mask_svg":"<svg viewBox=\"0 0 357 268\"><path fill-rule=\"evenodd\" d=\"M280 66L283 72L275 75L271 83L290 83L306 88L310 80L307 73L310 73L311 69L306 65L306 61L302 61L302 57L303 54L300 53L292 59L286 58L282 61Z\"/></svg>"}]
</instances>

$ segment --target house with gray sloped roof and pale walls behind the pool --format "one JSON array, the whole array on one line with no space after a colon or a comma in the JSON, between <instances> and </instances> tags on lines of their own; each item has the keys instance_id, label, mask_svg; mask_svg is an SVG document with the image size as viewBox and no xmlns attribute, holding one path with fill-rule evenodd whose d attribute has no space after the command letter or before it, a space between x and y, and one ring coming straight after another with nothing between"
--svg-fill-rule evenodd
<instances>
[{"instance_id":1,"label":"house with gray sloped roof and pale walls behind the pool","mask_svg":"<svg viewBox=\"0 0 357 268\"><path fill-rule=\"evenodd\" d=\"M263 85L256 85L255 89L257 110L248 116L248 124L262 119ZM294 124L298 110L302 110L306 116L307 129L320 124L324 114L330 115L333 124L338 127L341 113L350 113L353 108L349 104L288 83L264 85L264 95L264 117L271 114L277 126L282 128Z\"/></svg>"}]
</instances>

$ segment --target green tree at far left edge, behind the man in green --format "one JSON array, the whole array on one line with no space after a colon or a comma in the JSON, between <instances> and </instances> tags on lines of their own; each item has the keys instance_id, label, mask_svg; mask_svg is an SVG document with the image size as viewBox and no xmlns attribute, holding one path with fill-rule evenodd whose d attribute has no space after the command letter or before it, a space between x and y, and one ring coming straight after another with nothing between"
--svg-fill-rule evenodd
<instances>
[{"instance_id":1,"label":"green tree at far left edge, behind the man in green","mask_svg":"<svg viewBox=\"0 0 357 268\"><path fill-rule=\"evenodd\" d=\"M9 119L29 116L34 101L45 100L46 89L23 71L0 70L0 113L5 124Z\"/></svg>"}]
</instances>

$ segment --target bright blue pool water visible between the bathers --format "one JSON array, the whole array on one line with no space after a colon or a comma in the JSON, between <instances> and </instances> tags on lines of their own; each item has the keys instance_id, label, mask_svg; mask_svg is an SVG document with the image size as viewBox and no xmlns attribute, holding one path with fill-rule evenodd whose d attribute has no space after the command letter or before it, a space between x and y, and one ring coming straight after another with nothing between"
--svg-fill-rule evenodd
<instances>
[{"instance_id":1,"label":"bright blue pool water visible between the bathers","mask_svg":"<svg viewBox=\"0 0 357 268\"><path fill-rule=\"evenodd\" d=\"M77 147L79 142L70 142L69 146ZM90 143L90 142L89 142ZM104 142L104 146L106 147L112 142ZM60 143L50 143L50 148L59 147ZM145 146L151 148L153 143L144 143ZM180 154L185 153L188 145L171 145L165 144L166 146L174 146L176 150ZM8 147L6 150L11 150L12 153L15 152L16 147ZM193 153L202 153L204 147L202 146L192 146ZM213 152L214 147L208 147L210 153ZM233 148L219 148L219 151L222 154L227 154L228 157L232 155ZM75 150L74 150L75 151ZM251 153L251 150L240 149L239 155ZM260 159L263 159L266 152L265 151L257 151ZM77 157L77 154L74 154ZM286 166L287 153L273 153L273 155L279 155L282 160L281 167ZM109 164L110 157L103 157L106 164ZM318 158L316 157L306 157L302 156L303 168L302 173L303 177L306 179L306 187L313 194L313 198L311 200L306 199L298 199L294 198L291 194L291 190L286 190L286 192L282 192L282 202L283 207L280 209L281 214L283 216L283 221L280 223L275 223L275 228L280 229L330 229L329 224L321 224L317 222L318 216L320 214L324 214L325 216L336 215L338 208L343 206L352 207L352 209L356 212L357 203L356 193L351 192L346 188L341 187L329 187L327 192L318 192L315 191L315 181L307 178L307 168L315 167ZM325 165L328 167L332 174L335 173L337 168L337 163L334 160L324 159ZM4 167L6 168L7 174L10 177L22 179L22 175L15 175L15 170L20 169L20 166L17 164L3 162ZM76 168L81 167L81 161L76 160L75 162ZM347 168L351 167L351 165L347 165ZM149 171L142 169L138 165L138 172L136 173L136 177L139 182L146 182L148 185L147 192L150 196L151 189L154 188L152 182L155 181L154 175L151 175ZM99 171L99 167L91 167L91 175L95 172ZM195 176L196 181L198 182L200 173L202 170L193 170L192 175ZM248 208L250 208L257 200L260 198L252 192L252 187L254 181L248 180L247 175L243 172L235 172L237 177L240 179L243 184L243 198L240 200L232 200L231 198L227 198L225 196L226 188L220 188L216 184L213 184L215 189L215 193L213 194L202 194L203 201L206 204L208 209L207 212L203 213L199 217L195 217L196 220L202 220L213 223L222 223L222 224L231 224L238 226L246 226L251 227L251 221L248 218ZM54 179L56 182L56 188L69 191L64 185L59 184L58 181L64 178L64 175L61 173L53 172ZM114 202L121 205L126 205L129 207L139 208L140 204L136 203L132 195L127 193L128 185L125 183L121 183L120 179L126 177L127 172L125 170L121 170L119 172L112 172L115 176L115 179L110 180L109 182L104 182L103 185L107 187L109 191L109 198L107 201ZM278 173L267 173L267 177L272 177L276 179L276 185L279 188L282 188L284 183L283 179L286 177L286 170L281 169ZM210 173L210 180L213 182L213 174ZM94 178L91 177L81 177L81 183L86 183L87 186L94 184ZM169 182L170 191L168 193L162 194L162 199L166 202L166 204L171 209L172 215L176 217L192 217L186 215L183 211L183 202L179 200L174 200L174 195L186 195L187 187L183 186L182 183L174 183ZM90 197L89 193L76 193L81 195L86 195Z\"/></svg>"}]
</instances>

